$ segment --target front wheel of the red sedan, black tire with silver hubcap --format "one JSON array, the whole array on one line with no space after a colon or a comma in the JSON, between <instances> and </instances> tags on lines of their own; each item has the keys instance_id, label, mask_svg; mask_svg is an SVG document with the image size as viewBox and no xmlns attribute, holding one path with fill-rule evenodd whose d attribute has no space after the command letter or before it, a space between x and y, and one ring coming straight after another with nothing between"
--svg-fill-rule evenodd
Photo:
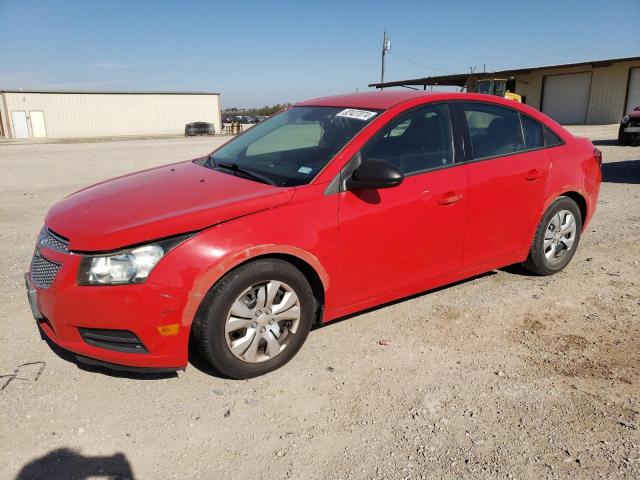
<instances>
[{"instance_id":1,"label":"front wheel of the red sedan, black tire with silver hubcap","mask_svg":"<svg viewBox=\"0 0 640 480\"><path fill-rule=\"evenodd\" d=\"M271 285L282 286L277 290L275 299L272 298L272 303L268 303L267 287ZM247 291L249 293L245 295ZM257 293L253 295L254 292ZM266 297L264 294L261 296L262 292ZM284 306L285 295L290 292L295 294L298 301L299 318L278 320L279 316L286 316L287 313L291 316L290 312L293 312L294 307L288 307L286 312L281 311L280 314L272 314L267 304L273 305L273 312L276 312L277 307ZM287 297L288 300L291 298L292 295ZM244 303L249 299L253 299L255 304ZM278 299L280 303L276 304ZM192 332L200 353L219 373L235 379L253 378L280 368L295 356L311 330L316 311L313 291L300 270L279 259L256 260L227 273L209 290L198 309ZM266 316L267 312L269 317ZM260 316L255 318L254 315L258 314ZM296 312L293 315L295 316ZM238 325L242 322L243 328L227 333L227 329L230 329L227 326L229 320ZM274 333L275 329L279 337ZM249 341L245 339L249 337L253 340L246 352L242 352L244 345ZM253 342L258 337L261 338L257 340L259 346L252 349ZM279 353L270 356L270 353L278 348L276 346L274 350L269 351L269 347L276 345L273 343L274 339L277 342L282 341L284 346L280 346L282 350ZM232 351L234 345L238 345L234 347L236 353Z\"/></svg>"}]
</instances>

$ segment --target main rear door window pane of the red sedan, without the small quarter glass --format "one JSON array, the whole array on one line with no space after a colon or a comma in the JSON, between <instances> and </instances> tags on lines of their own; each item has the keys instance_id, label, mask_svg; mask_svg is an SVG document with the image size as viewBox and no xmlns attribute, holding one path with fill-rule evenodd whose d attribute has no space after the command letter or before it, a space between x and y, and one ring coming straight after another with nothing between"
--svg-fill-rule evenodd
<instances>
[{"instance_id":1,"label":"main rear door window pane of the red sedan, without the small quarter glass","mask_svg":"<svg viewBox=\"0 0 640 480\"><path fill-rule=\"evenodd\" d=\"M464 103L462 108L469 126L474 159L524 150L518 112L486 103Z\"/></svg>"}]
</instances>

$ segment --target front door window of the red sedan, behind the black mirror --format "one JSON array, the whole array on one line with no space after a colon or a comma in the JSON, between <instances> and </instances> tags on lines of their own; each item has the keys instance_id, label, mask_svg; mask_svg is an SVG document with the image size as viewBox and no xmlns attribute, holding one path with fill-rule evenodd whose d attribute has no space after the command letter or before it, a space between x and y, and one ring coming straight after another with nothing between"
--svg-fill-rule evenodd
<instances>
[{"instance_id":1,"label":"front door window of the red sedan, behind the black mirror","mask_svg":"<svg viewBox=\"0 0 640 480\"><path fill-rule=\"evenodd\" d=\"M447 105L419 107L391 120L362 149L362 161L387 160L405 175L453 163Z\"/></svg>"}]
</instances>

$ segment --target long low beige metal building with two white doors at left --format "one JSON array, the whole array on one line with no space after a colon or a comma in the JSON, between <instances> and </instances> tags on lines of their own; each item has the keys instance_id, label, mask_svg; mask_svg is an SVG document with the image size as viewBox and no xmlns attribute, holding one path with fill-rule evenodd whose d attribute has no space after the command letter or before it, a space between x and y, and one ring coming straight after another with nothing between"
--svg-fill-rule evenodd
<instances>
[{"instance_id":1,"label":"long low beige metal building with two white doors at left","mask_svg":"<svg viewBox=\"0 0 640 480\"><path fill-rule=\"evenodd\" d=\"M213 123L220 132L220 94L0 91L5 138L181 135L191 122Z\"/></svg>"}]
</instances>

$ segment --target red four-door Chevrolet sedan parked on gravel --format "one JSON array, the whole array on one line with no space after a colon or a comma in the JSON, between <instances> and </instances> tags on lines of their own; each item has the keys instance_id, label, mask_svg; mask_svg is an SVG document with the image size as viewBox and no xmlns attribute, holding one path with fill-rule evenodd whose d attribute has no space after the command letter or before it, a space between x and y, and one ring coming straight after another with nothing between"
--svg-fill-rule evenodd
<instances>
[{"instance_id":1,"label":"red four-door Chevrolet sedan parked on gravel","mask_svg":"<svg viewBox=\"0 0 640 480\"><path fill-rule=\"evenodd\" d=\"M288 362L316 323L495 268L562 270L601 154L526 105L371 92L302 102L205 158L80 190L27 290L83 362L222 374Z\"/></svg>"}]
</instances>

